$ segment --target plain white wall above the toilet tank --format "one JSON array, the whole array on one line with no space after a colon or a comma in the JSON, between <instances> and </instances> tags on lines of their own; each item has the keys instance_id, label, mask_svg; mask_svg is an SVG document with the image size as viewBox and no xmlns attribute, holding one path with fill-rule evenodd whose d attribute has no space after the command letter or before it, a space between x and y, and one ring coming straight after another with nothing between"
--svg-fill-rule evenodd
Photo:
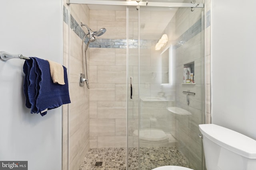
<instances>
[{"instance_id":1,"label":"plain white wall above the toilet tank","mask_svg":"<svg viewBox=\"0 0 256 170\"><path fill-rule=\"evenodd\" d=\"M256 1L212 0L212 123L256 139Z\"/></svg>"}]
</instances>

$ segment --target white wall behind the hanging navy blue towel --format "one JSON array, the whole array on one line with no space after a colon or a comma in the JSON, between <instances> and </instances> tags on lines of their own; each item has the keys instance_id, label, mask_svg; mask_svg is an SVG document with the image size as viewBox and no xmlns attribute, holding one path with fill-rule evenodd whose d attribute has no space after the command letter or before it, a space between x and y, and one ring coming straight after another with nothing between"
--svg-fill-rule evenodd
<instances>
[{"instance_id":1,"label":"white wall behind the hanging navy blue towel","mask_svg":"<svg viewBox=\"0 0 256 170\"><path fill-rule=\"evenodd\" d=\"M62 0L5 0L0 51L62 63ZM0 61L0 160L28 160L28 170L61 170L62 108L30 114L24 60Z\"/></svg>"}]
</instances>

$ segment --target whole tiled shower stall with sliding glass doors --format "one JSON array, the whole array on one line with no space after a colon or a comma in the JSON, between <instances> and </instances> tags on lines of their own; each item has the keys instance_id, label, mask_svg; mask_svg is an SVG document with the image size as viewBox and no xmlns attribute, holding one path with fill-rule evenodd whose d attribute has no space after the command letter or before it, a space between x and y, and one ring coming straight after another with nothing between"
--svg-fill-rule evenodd
<instances>
[{"instance_id":1,"label":"whole tiled shower stall with sliding glass doors","mask_svg":"<svg viewBox=\"0 0 256 170\"><path fill-rule=\"evenodd\" d=\"M69 2L64 64L72 103L63 111L63 170L203 170L205 2ZM102 27L100 37L84 38ZM83 41L90 41L83 47L90 89L79 86Z\"/></svg>"}]
</instances>

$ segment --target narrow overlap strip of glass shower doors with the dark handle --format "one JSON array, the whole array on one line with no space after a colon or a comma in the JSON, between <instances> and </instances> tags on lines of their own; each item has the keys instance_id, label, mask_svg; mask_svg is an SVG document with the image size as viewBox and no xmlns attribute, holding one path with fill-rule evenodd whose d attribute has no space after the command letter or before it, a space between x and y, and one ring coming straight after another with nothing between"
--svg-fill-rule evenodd
<instances>
[{"instance_id":1,"label":"narrow overlap strip of glass shower doors with the dark handle","mask_svg":"<svg viewBox=\"0 0 256 170\"><path fill-rule=\"evenodd\" d=\"M127 164L128 170L138 168L138 14L135 6L127 7L128 14L128 77L127 77Z\"/></svg>"}]
</instances>

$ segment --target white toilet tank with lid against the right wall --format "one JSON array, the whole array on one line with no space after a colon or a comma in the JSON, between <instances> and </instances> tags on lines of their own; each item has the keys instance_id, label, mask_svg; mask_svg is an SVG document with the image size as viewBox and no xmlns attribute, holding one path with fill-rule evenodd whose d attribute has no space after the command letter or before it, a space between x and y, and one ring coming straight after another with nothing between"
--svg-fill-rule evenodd
<instances>
[{"instance_id":1,"label":"white toilet tank with lid against the right wall","mask_svg":"<svg viewBox=\"0 0 256 170\"><path fill-rule=\"evenodd\" d=\"M256 141L214 124L199 125L207 170L256 170Z\"/></svg>"}]
</instances>

